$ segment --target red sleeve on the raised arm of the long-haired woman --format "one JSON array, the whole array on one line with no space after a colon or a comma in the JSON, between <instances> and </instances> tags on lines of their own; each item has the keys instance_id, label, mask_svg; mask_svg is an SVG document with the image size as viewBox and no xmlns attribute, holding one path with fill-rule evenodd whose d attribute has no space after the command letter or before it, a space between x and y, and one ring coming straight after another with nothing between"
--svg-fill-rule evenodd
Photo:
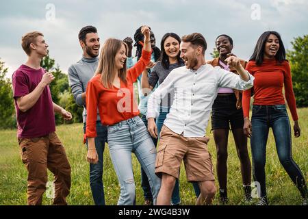
<instances>
[{"instance_id":1,"label":"red sleeve on the raised arm of the long-haired woman","mask_svg":"<svg viewBox=\"0 0 308 219\"><path fill-rule=\"evenodd\" d=\"M146 65L149 64L151 60L151 52L144 51L142 49L142 55L140 60L131 68L127 70L127 77L131 79L131 81L136 81L138 76L141 75L142 71L146 68Z\"/></svg>"}]
</instances>

